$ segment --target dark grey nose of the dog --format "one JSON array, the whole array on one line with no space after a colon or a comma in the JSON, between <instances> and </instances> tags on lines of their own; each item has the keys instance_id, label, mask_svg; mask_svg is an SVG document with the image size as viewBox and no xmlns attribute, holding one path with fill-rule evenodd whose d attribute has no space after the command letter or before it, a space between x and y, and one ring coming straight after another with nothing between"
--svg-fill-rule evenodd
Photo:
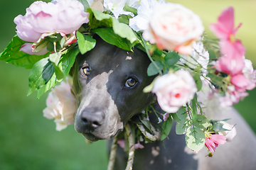
<instances>
[{"instance_id":1,"label":"dark grey nose of the dog","mask_svg":"<svg viewBox=\"0 0 256 170\"><path fill-rule=\"evenodd\" d=\"M86 109L82 112L82 124L88 127L97 128L104 122L105 114L102 111Z\"/></svg>"}]
</instances>

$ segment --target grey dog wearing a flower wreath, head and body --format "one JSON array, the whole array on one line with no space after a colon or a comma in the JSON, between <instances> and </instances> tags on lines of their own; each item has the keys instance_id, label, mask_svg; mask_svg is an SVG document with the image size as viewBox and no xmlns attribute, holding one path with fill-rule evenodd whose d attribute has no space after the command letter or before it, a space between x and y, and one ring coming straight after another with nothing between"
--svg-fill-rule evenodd
<instances>
[{"instance_id":1,"label":"grey dog wearing a flower wreath, head and body","mask_svg":"<svg viewBox=\"0 0 256 170\"><path fill-rule=\"evenodd\" d=\"M150 64L146 54L137 48L129 52L96 39L95 48L79 55L72 71L78 105L75 130L90 141L111 140L122 132L129 118L141 113L155 98L154 94L143 93L154 80L146 73ZM176 135L173 125L164 145L157 140L143 143L144 149L135 151L133 169L255 169L255 134L235 109L220 112L209 116L215 120L231 118L229 123L236 124L237 136L220 145L213 157L206 157L207 149L198 153L188 149L184 135ZM114 169L125 169L127 158L127 153L118 147Z\"/></svg>"}]
</instances>

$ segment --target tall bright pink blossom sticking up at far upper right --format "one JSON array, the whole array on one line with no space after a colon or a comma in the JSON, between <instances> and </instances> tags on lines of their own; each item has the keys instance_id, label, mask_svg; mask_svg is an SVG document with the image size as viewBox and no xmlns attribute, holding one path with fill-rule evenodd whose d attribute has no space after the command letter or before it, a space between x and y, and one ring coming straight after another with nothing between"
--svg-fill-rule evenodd
<instances>
[{"instance_id":1,"label":"tall bright pink blossom sticking up at far upper right","mask_svg":"<svg viewBox=\"0 0 256 170\"><path fill-rule=\"evenodd\" d=\"M229 7L225 9L218 18L218 23L210 24L210 30L220 39L220 52L223 55L217 62L218 71L227 74L238 74L245 66L243 56L245 47L240 40L235 39L235 33L238 28L234 28L234 9Z\"/></svg>"}]
</instances>

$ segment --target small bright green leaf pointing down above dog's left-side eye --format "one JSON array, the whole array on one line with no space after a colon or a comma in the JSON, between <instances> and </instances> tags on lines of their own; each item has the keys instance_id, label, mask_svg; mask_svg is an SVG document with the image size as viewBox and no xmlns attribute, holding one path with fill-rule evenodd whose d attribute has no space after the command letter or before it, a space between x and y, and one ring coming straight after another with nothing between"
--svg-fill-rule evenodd
<instances>
[{"instance_id":1,"label":"small bright green leaf pointing down above dog's left-side eye","mask_svg":"<svg viewBox=\"0 0 256 170\"><path fill-rule=\"evenodd\" d=\"M96 40L93 39L90 35L84 35L78 31L76 34L78 37L78 47L82 55L95 47Z\"/></svg>"}]
</instances>

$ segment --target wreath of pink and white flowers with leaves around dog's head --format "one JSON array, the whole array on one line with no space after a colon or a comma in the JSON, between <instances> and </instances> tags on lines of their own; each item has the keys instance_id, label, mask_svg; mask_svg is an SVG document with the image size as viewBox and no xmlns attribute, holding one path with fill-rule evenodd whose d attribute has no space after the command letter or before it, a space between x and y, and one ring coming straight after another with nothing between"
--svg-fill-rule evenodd
<instances>
[{"instance_id":1,"label":"wreath of pink and white flowers with leaves around dog's head","mask_svg":"<svg viewBox=\"0 0 256 170\"><path fill-rule=\"evenodd\" d=\"M139 141L164 140L175 121L176 134L186 135L190 149L198 152L206 146L212 156L236 132L226 120L208 120L202 106L210 100L221 107L232 106L248 95L246 90L255 88L256 72L245 59L242 42L235 38L241 23L235 28L233 7L210 24L218 40L203 36L203 23L193 11L164 0L35 1L14 23L16 35L0 60L31 69L28 95L38 91L40 98L51 89L43 115L55 118L56 130L73 123L76 104L69 72L79 53L95 47L92 35L123 50L137 47L146 52L151 60L147 73L158 76L144 92L156 94L164 113L151 105L132 118L127 134L122 132L114 139L112 150L117 144L129 148L126 140L133 148L129 152L143 148ZM151 112L159 120L156 130L149 123Z\"/></svg>"}]
</instances>

